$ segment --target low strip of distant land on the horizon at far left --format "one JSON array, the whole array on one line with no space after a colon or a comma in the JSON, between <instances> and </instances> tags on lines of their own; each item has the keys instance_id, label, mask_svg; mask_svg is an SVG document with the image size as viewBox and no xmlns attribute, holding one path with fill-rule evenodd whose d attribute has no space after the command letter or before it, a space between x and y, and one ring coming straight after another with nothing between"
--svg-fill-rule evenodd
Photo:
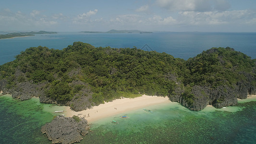
<instances>
[{"instance_id":1,"label":"low strip of distant land on the horizon at far left","mask_svg":"<svg viewBox=\"0 0 256 144\"><path fill-rule=\"evenodd\" d=\"M35 36L37 34L57 34L57 32L39 31L39 32L9 33L9 34L0 35L0 39L3 39L3 38L14 38L14 37L23 37L23 36Z\"/></svg>"}]
</instances>

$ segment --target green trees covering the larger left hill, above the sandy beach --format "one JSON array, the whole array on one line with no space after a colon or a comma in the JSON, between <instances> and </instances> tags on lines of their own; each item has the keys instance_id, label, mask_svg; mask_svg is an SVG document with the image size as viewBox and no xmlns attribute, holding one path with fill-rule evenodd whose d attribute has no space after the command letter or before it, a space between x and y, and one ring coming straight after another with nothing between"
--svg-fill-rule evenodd
<instances>
[{"instance_id":1,"label":"green trees covering the larger left hill, above the sandy beach","mask_svg":"<svg viewBox=\"0 0 256 144\"><path fill-rule=\"evenodd\" d=\"M28 48L16 60L0 66L0 79L8 79L9 85L15 85L13 76L19 69L26 81L47 83L45 93L59 102L69 101L79 93L82 85L71 84L79 80L89 84L92 100L98 105L140 94L168 96L176 86L172 77L183 79L180 77L183 67L184 60L166 53L137 48L95 48L74 42L63 50ZM73 71L79 72L73 74Z\"/></svg>"}]
</instances>

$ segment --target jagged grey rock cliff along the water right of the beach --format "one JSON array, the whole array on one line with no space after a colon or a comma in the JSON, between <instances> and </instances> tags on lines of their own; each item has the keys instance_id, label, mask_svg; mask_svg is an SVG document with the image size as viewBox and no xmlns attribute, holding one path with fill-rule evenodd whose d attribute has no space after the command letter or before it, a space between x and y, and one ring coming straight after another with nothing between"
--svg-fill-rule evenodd
<instances>
[{"instance_id":1,"label":"jagged grey rock cliff along the water right of the beach","mask_svg":"<svg viewBox=\"0 0 256 144\"><path fill-rule=\"evenodd\" d=\"M237 98L246 99L248 95L256 95L255 87L249 83L237 83L232 87L222 85L216 88L195 85L191 90L191 101L185 98L184 89L179 88L175 91L176 95L170 96L169 99L195 111L202 110L207 105L215 108L234 106L237 104Z\"/></svg>"}]
</instances>

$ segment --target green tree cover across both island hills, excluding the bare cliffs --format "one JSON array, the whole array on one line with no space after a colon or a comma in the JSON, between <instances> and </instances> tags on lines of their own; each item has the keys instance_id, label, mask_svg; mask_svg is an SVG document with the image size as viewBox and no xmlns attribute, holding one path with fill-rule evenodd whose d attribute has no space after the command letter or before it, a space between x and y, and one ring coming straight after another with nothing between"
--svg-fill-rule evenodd
<instances>
[{"instance_id":1,"label":"green tree cover across both island hills, excluding the bare cliffs","mask_svg":"<svg viewBox=\"0 0 256 144\"><path fill-rule=\"evenodd\" d=\"M56 101L70 101L81 94L83 84L93 92L90 101L96 105L119 97L182 96L193 105L194 85L232 87L248 81L246 73L255 78L255 62L233 48L211 48L194 58L183 60L166 53L137 48L95 48L74 42L62 50L47 47L27 48L12 62L0 66L0 80L8 88L17 83L45 83L45 94ZM23 74L15 78L15 72ZM83 84L74 84L74 81ZM255 80L250 81L256 86Z\"/></svg>"}]
</instances>

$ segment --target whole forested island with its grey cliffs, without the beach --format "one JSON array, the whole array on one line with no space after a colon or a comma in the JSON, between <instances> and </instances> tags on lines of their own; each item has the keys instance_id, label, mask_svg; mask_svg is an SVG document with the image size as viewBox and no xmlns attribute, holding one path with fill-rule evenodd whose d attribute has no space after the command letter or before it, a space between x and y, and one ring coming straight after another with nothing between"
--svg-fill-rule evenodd
<instances>
[{"instance_id":1,"label":"whole forested island with its grey cliffs, without the beach","mask_svg":"<svg viewBox=\"0 0 256 144\"><path fill-rule=\"evenodd\" d=\"M27 48L0 66L0 91L21 100L75 111L120 97L168 96L191 110L233 106L256 94L256 59L233 48L210 48L183 60L137 48Z\"/></svg>"}]
</instances>

